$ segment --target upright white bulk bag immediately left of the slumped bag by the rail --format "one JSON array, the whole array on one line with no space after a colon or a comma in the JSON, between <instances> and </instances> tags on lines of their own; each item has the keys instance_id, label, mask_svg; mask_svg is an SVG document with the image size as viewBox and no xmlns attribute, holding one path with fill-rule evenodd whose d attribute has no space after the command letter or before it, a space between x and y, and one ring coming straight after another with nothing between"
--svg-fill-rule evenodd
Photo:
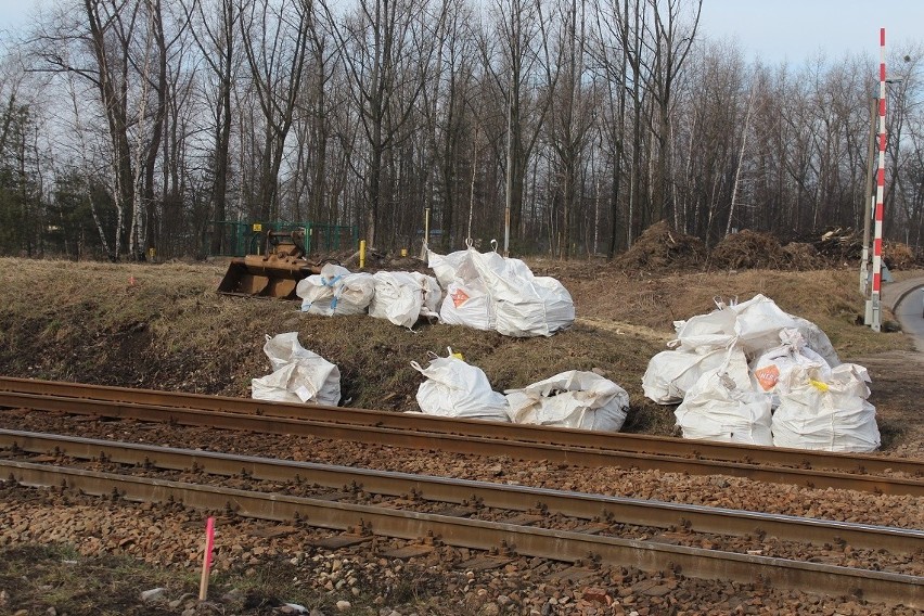
<instances>
[{"instance_id":1,"label":"upright white bulk bag immediately left of the slumped bag by the rail","mask_svg":"<svg viewBox=\"0 0 924 616\"><path fill-rule=\"evenodd\" d=\"M491 389L485 372L452 355L434 357L429 365L411 367L426 376L418 387L418 405L424 414L509 422L506 398Z\"/></svg>"}]
</instances>

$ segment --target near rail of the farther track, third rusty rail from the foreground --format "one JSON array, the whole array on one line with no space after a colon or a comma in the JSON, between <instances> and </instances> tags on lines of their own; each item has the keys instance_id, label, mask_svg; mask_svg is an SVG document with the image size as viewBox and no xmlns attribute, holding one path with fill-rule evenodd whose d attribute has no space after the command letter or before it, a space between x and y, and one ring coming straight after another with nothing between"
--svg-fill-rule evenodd
<instances>
[{"instance_id":1,"label":"near rail of the farther track, third rusty rail from the foreground","mask_svg":"<svg viewBox=\"0 0 924 616\"><path fill-rule=\"evenodd\" d=\"M394 429L377 426L318 422L293 418L228 413L178 407L136 405L74 397L0 392L0 407L24 407L43 411L169 422L178 425L241 429L255 433L312 436L411 449L453 451L484 457L508 455L517 460L546 460L577 466L616 466L659 470L668 473L729 475L756 482L790 484L809 488L835 488L884 495L924 496L924 479L856 475L791 467L755 466L736 462L679 458L676 455L601 450L586 447L515 441L482 436ZM501 424L502 425L502 424Z\"/></svg>"}]
</instances>

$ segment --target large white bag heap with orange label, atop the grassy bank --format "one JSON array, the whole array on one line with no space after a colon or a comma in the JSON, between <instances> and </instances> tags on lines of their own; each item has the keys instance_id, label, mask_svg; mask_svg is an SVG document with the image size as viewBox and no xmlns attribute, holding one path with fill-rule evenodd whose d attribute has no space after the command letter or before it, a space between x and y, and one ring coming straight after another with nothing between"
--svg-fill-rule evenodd
<instances>
[{"instance_id":1,"label":"large white bag heap with orange label, atop the grassy bank","mask_svg":"<svg viewBox=\"0 0 924 616\"><path fill-rule=\"evenodd\" d=\"M574 301L564 285L534 275L519 259L472 246L445 256L432 251L427 255L446 290L439 309L444 323L519 337L551 336L574 323Z\"/></svg>"}]
</instances>

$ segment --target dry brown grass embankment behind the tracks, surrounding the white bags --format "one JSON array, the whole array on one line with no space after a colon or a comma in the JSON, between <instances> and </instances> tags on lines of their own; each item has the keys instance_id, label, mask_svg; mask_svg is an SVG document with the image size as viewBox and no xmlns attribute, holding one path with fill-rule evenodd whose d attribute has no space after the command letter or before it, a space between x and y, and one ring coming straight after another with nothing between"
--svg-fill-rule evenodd
<instances>
[{"instance_id":1,"label":"dry brown grass embankment behind the tracks, surrounding the white bags","mask_svg":"<svg viewBox=\"0 0 924 616\"><path fill-rule=\"evenodd\" d=\"M667 242L667 252L658 254L673 251L698 262L696 246L685 239ZM251 380L269 372L265 335L298 331L306 348L339 367L344 405L416 410L422 377L410 362L425 364L427 354L445 355L452 347L485 370L497 390L565 370L596 369L631 396L624 429L673 434L672 408L647 401L641 377L649 359L672 337L672 322L709 311L714 297L744 300L762 293L816 322L847 359L911 348L900 333L873 334L856 324L862 303L854 268L627 270L626 258L529 261L537 274L559 278L575 300L575 325L549 338L511 338L426 322L411 332L364 316L301 313L294 301L226 297L215 293L226 269L221 262L2 259L0 372L246 397ZM883 399L878 405L887 409L903 402ZM898 434L897 426L885 426L886 436L893 433Z\"/></svg>"}]
</instances>

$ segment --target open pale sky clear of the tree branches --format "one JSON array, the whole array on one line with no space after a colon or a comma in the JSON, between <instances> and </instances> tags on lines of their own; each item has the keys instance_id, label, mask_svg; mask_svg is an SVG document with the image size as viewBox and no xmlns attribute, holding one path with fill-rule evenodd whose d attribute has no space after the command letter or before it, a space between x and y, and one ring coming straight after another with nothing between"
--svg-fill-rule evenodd
<instances>
[{"instance_id":1,"label":"open pale sky clear of the tree branches","mask_svg":"<svg viewBox=\"0 0 924 616\"><path fill-rule=\"evenodd\" d=\"M0 0L0 31L27 23L37 4L55 0ZM801 64L819 50L878 59L881 27L889 49L924 40L924 0L704 0L702 31L736 39L748 59Z\"/></svg>"}]
</instances>

